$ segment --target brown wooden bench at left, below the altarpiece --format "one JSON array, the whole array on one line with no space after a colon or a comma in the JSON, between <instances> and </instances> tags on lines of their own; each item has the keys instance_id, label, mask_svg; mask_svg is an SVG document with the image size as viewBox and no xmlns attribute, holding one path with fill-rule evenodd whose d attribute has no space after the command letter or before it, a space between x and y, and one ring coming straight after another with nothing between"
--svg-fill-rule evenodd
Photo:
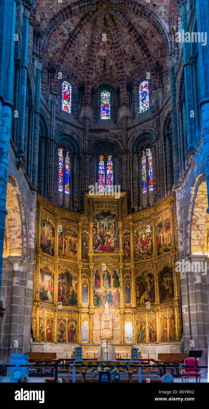
<instances>
[{"instance_id":1,"label":"brown wooden bench at left, below the altarpiece","mask_svg":"<svg viewBox=\"0 0 209 409\"><path fill-rule=\"evenodd\" d=\"M53 366L47 366L47 364L54 364L57 362L56 352L27 352L29 362L34 364L43 364L44 368L50 368L51 377L53 377ZM43 375L42 368L40 366L31 366L29 369L37 369L37 376Z\"/></svg>"}]
</instances>

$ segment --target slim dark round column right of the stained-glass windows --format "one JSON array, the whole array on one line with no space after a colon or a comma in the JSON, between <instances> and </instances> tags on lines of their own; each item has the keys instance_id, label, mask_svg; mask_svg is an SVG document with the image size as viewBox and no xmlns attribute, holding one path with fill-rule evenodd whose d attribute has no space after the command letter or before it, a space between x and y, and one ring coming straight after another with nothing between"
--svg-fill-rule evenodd
<instances>
[{"instance_id":1,"label":"slim dark round column right of the stained-glass windows","mask_svg":"<svg viewBox=\"0 0 209 409\"><path fill-rule=\"evenodd\" d=\"M178 151L178 132L177 132L177 114L176 114L176 82L174 59L168 56L167 64L169 65L170 90L171 90L171 124L172 124L172 145L173 145L173 173L174 186L179 185L179 151Z\"/></svg>"}]
</instances>

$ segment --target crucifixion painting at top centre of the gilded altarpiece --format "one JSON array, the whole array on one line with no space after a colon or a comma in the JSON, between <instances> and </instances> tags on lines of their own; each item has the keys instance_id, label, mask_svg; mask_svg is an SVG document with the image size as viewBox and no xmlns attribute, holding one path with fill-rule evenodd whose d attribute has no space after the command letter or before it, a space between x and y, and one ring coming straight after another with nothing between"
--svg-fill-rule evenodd
<instances>
[{"instance_id":1,"label":"crucifixion painting at top centre of the gilded altarpiece","mask_svg":"<svg viewBox=\"0 0 209 409\"><path fill-rule=\"evenodd\" d=\"M118 218L109 211L101 212L94 218L93 250L95 253L118 253Z\"/></svg>"}]
</instances>

